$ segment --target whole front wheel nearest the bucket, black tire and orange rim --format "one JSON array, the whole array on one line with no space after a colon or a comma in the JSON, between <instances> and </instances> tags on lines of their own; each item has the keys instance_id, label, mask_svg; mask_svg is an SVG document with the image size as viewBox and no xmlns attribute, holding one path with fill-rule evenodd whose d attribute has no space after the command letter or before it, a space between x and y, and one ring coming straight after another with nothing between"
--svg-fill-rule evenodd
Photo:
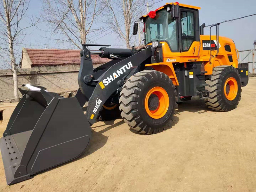
<instances>
[{"instance_id":1,"label":"whole front wheel nearest the bucket, black tire and orange rim","mask_svg":"<svg viewBox=\"0 0 256 192\"><path fill-rule=\"evenodd\" d=\"M175 86L167 75L145 70L126 81L120 93L119 109L133 130L153 134L171 127L177 101Z\"/></svg>"}]
</instances>

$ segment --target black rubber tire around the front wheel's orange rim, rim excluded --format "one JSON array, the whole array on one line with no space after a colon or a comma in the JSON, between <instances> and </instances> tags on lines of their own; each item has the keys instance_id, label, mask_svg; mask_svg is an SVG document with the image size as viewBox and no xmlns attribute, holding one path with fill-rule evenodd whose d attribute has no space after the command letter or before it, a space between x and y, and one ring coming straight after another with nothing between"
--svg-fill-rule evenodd
<instances>
[{"instance_id":1,"label":"black rubber tire around the front wheel's orange rim, rim excluded","mask_svg":"<svg viewBox=\"0 0 256 192\"><path fill-rule=\"evenodd\" d=\"M153 87L162 87L168 94L169 107L165 115L154 119L145 109L145 97ZM122 87L119 109L124 121L135 131L155 134L171 127L171 120L176 114L178 97L172 80L162 72L144 70L131 76Z\"/></svg>"}]
</instances>

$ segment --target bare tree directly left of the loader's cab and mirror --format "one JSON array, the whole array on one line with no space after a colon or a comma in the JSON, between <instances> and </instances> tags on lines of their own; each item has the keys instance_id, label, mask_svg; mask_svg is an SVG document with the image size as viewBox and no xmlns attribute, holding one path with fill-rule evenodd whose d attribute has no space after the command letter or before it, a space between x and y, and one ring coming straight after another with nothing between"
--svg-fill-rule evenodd
<instances>
[{"instance_id":1,"label":"bare tree directly left of the loader's cab and mirror","mask_svg":"<svg viewBox=\"0 0 256 192\"><path fill-rule=\"evenodd\" d=\"M138 20L144 9L145 0L104 0L108 12L106 23L131 48L133 22Z\"/></svg>"}]
</instances>

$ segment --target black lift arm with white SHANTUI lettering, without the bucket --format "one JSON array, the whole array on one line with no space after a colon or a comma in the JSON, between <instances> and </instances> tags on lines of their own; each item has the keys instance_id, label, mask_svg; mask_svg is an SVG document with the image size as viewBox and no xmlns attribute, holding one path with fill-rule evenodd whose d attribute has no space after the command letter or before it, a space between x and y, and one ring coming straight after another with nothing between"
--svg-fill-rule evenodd
<instances>
[{"instance_id":1,"label":"black lift arm with white SHANTUI lettering, without the bucket","mask_svg":"<svg viewBox=\"0 0 256 192\"><path fill-rule=\"evenodd\" d=\"M94 52L85 47L81 51L81 67L78 74L79 90L75 96L81 107L88 101L86 118L91 125L95 123L100 108L108 97L124 84L124 78L132 76L138 68L144 68L145 62L150 62L152 53L151 46L136 54L132 54L132 50L129 49L108 49L104 47L100 50ZM101 66L101 70L93 71L91 54L108 57L113 52L127 58L109 61L104 64L105 66Z\"/></svg>"}]
</instances>

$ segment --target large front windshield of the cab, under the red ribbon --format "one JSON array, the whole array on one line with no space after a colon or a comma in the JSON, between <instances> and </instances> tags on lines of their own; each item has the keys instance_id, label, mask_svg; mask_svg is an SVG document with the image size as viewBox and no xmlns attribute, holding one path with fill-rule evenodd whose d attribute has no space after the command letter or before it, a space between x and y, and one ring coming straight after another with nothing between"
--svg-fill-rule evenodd
<instances>
[{"instance_id":1,"label":"large front windshield of the cab, under the red ribbon","mask_svg":"<svg viewBox=\"0 0 256 192\"><path fill-rule=\"evenodd\" d=\"M145 20L145 40L146 44L152 41L168 42L173 52L178 51L178 32L176 20L171 14L163 9L156 12L154 19L147 17Z\"/></svg>"}]
</instances>

